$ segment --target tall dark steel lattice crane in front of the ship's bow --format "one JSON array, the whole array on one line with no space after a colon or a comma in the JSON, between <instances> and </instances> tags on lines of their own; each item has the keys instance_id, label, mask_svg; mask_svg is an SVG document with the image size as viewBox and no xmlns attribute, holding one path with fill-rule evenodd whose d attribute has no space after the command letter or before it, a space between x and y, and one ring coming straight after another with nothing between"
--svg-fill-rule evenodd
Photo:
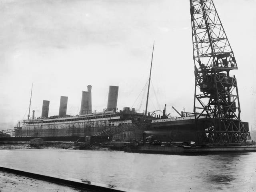
<instances>
[{"instance_id":1,"label":"tall dark steel lattice crane in front of the ship's bow","mask_svg":"<svg viewBox=\"0 0 256 192\"><path fill-rule=\"evenodd\" d=\"M190 0L195 66L194 113L201 142L236 143L248 139L240 120L234 53L212 0ZM199 112L198 112L199 111ZM202 122L205 116L207 121Z\"/></svg>"}]
</instances>

